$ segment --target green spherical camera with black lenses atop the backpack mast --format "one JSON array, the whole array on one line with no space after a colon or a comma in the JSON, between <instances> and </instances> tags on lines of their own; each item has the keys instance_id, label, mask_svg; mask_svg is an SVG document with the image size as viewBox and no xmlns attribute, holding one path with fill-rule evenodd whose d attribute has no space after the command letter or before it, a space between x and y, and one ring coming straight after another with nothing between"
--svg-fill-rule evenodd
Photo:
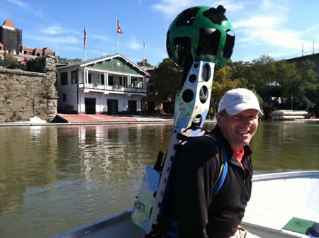
<instances>
[{"instance_id":1,"label":"green spherical camera with black lenses atop the backpack mast","mask_svg":"<svg viewBox=\"0 0 319 238\"><path fill-rule=\"evenodd\" d=\"M188 69L194 60L223 67L233 53L235 34L225 8L195 6L179 13L167 31L167 53L179 67Z\"/></svg>"}]
</instances>

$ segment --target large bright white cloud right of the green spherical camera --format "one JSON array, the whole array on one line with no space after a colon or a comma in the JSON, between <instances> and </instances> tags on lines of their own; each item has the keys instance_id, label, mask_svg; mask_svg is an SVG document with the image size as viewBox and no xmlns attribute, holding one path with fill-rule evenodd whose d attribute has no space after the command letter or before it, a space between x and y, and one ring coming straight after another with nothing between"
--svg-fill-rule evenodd
<instances>
[{"instance_id":1,"label":"large bright white cloud right of the green spherical camera","mask_svg":"<svg viewBox=\"0 0 319 238\"><path fill-rule=\"evenodd\" d=\"M319 23L303 30L291 30L286 27L289 22L289 8L285 0L281 6L274 5L274 1L264 0L254 16L245 21L235 21L233 26L237 33L237 43L264 45L264 47L279 47L281 50L301 50L302 45L312 48L313 42L303 40L306 33L315 33ZM273 57L279 53L269 53Z\"/></svg>"}]
</instances>

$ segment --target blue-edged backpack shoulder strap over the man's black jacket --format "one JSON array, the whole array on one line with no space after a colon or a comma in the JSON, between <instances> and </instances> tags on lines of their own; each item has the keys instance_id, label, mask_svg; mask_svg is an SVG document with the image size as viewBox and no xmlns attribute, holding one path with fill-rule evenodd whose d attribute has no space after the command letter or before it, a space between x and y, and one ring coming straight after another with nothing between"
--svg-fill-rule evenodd
<instances>
[{"instance_id":1,"label":"blue-edged backpack shoulder strap over the man's black jacket","mask_svg":"<svg viewBox=\"0 0 319 238\"><path fill-rule=\"evenodd\" d=\"M211 138L211 140L213 140L213 145L218 149L218 154L220 156L221 159L221 166L220 166L220 171L218 174L218 178L215 181L215 183L213 184L213 198L216 197L216 195L218 194L221 186L223 186L223 183L226 179L227 176L227 171L228 171L228 158L227 158L227 152L225 147L223 147L223 145L220 143L220 141L218 140L218 138L209 133L204 135L205 137ZM220 152L221 150L221 152Z\"/></svg>"}]
</instances>

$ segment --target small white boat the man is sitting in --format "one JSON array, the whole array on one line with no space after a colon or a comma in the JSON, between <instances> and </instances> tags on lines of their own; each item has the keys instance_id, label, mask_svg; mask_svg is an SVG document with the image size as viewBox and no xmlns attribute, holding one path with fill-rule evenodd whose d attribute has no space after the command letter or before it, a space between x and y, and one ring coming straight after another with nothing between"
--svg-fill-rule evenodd
<instances>
[{"instance_id":1,"label":"small white boat the man is sitting in","mask_svg":"<svg viewBox=\"0 0 319 238\"><path fill-rule=\"evenodd\" d=\"M315 237L284 227L293 217L299 222L319 222L319 171L254 175L252 183L242 227L262 238ZM125 210L53 238L145 237L130 215L131 210Z\"/></svg>"}]
</instances>

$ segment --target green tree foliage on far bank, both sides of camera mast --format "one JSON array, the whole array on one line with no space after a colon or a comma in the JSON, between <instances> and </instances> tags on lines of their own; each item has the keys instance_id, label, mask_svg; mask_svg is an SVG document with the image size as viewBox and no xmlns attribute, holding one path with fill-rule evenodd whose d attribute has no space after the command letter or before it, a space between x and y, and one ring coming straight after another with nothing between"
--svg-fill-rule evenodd
<instances>
[{"instance_id":1,"label":"green tree foliage on far bank, both sides of camera mast","mask_svg":"<svg viewBox=\"0 0 319 238\"><path fill-rule=\"evenodd\" d=\"M276 109L306 110L318 113L319 77L313 71L314 63L310 60L296 64L275 61L263 55L252 62L229 62L221 69L216 69L213 78L210 116L215 115L218 103L230 89L243 87L254 91L259 99L266 118ZM158 75L157 90L159 95L172 98L181 90L182 71L169 59L164 59L155 69Z\"/></svg>"}]
</instances>

